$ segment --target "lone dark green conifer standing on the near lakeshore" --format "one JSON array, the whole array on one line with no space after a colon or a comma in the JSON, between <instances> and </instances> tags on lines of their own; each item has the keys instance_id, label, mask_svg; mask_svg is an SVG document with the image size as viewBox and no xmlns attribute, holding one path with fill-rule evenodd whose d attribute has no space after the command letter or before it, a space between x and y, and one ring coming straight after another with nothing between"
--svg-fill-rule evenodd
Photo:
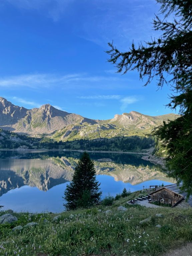
<instances>
[{"instance_id":1,"label":"lone dark green conifer standing on the near lakeshore","mask_svg":"<svg viewBox=\"0 0 192 256\"><path fill-rule=\"evenodd\" d=\"M74 210L79 207L88 208L98 205L102 194L99 191L99 186L94 162L90 159L89 154L84 152L75 167L73 179L64 192L63 198L66 203L63 206L67 210Z\"/></svg>"}]
</instances>

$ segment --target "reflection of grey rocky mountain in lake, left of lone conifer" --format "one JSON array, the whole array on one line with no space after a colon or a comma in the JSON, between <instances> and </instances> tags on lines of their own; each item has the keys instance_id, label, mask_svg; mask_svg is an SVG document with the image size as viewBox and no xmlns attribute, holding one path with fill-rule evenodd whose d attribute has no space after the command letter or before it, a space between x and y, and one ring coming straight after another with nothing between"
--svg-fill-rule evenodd
<instances>
[{"instance_id":1,"label":"reflection of grey rocky mountain in lake, left of lone conifer","mask_svg":"<svg viewBox=\"0 0 192 256\"><path fill-rule=\"evenodd\" d=\"M64 160L62 159L63 163ZM61 166L52 160L1 159L0 196L24 185L47 191L58 184L71 181L73 172L71 165Z\"/></svg>"}]
</instances>

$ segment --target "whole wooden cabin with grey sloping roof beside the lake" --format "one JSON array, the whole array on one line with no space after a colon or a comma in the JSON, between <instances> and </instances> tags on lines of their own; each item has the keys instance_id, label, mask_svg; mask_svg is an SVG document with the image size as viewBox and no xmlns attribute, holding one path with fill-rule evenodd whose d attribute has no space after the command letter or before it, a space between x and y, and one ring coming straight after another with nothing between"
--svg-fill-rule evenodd
<instances>
[{"instance_id":1,"label":"whole wooden cabin with grey sloping roof beside the lake","mask_svg":"<svg viewBox=\"0 0 192 256\"><path fill-rule=\"evenodd\" d=\"M149 194L151 201L169 204L171 207L182 204L184 207L192 207L192 196L186 202L187 193L182 192L177 184L167 185L156 189Z\"/></svg>"}]
</instances>

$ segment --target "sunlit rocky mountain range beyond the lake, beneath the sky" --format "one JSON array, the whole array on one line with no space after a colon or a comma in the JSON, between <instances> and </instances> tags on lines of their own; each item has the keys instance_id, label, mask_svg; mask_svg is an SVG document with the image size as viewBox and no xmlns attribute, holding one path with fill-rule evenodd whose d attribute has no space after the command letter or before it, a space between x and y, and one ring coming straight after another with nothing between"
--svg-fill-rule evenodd
<instances>
[{"instance_id":1,"label":"sunlit rocky mountain range beyond the lake, beneath the sky","mask_svg":"<svg viewBox=\"0 0 192 256\"><path fill-rule=\"evenodd\" d=\"M160 125L163 120L173 120L177 116L148 116L131 111L108 120L94 120L58 110L50 104L26 109L0 97L0 128L30 136L50 136L57 141L142 136Z\"/></svg>"}]
</instances>

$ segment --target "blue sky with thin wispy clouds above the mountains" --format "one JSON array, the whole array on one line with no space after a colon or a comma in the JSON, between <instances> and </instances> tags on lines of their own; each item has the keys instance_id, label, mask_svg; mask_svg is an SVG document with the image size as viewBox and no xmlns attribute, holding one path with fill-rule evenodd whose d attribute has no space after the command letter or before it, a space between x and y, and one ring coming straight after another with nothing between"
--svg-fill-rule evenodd
<instances>
[{"instance_id":1,"label":"blue sky with thin wispy clouds above the mountains","mask_svg":"<svg viewBox=\"0 0 192 256\"><path fill-rule=\"evenodd\" d=\"M133 39L158 36L151 22L159 8L155 0L1 0L0 96L92 119L170 113L169 87L117 74L105 53L112 40L125 51Z\"/></svg>"}]
</instances>

